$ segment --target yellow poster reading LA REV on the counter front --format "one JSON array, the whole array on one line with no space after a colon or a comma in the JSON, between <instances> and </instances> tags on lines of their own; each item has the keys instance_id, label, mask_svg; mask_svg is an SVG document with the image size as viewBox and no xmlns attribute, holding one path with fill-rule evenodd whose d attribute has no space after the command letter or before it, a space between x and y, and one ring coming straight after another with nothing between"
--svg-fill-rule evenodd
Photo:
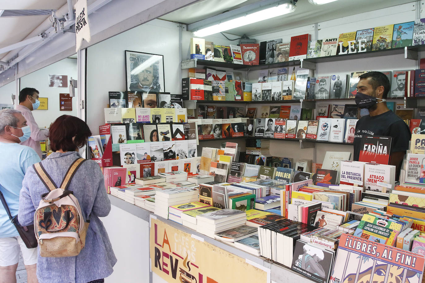
<instances>
[{"instance_id":1,"label":"yellow poster reading LA REV on the counter front","mask_svg":"<svg viewBox=\"0 0 425 283\"><path fill-rule=\"evenodd\" d=\"M156 218L150 225L152 271L169 283L267 283L268 272ZM206 236L205 236L206 237Z\"/></svg>"}]
</instances>

